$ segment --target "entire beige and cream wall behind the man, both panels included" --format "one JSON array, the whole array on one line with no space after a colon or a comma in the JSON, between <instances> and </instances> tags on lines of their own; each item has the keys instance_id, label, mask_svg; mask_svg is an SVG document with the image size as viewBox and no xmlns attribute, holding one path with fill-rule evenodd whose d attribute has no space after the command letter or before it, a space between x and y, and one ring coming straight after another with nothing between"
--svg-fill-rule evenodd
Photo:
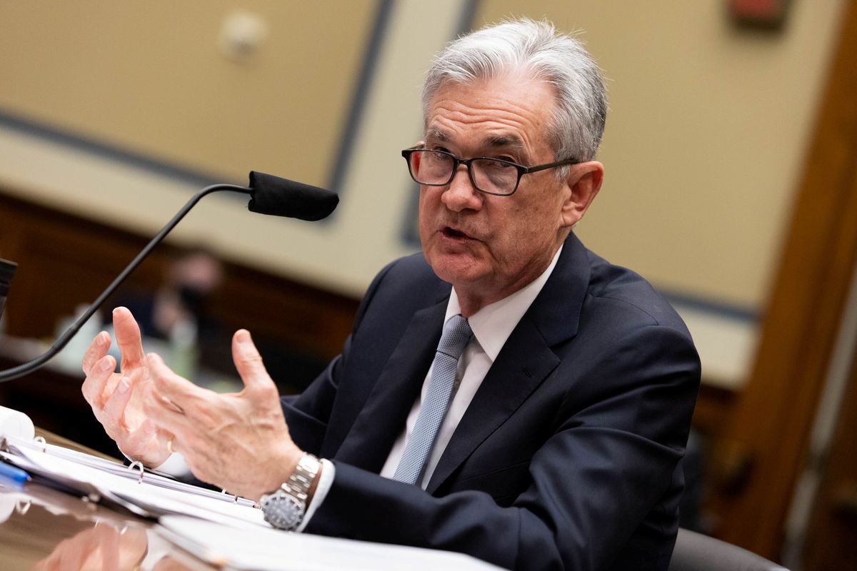
<instances>
[{"instance_id":1,"label":"entire beige and cream wall behind the man, both panels included","mask_svg":"<svg viewBox=\"0 0 857 571\"><path fill-rule=\"evenodd\" d=\"M212 175L268 170L323 184L337 152L375 2L3 2L0 110ZM236 212L226 199L178 240L359 294L407 247L399 149L420 129L420 75L462 3L399 2L358 152L332 222ZM662 288L764 309L841 0L792 3L780 34L742 33L725 3L483 0L476 24L548 15L584 29L609 78L607 180L578 231ZM232 9L267 22L249 64L222 57ZM189 188L14 132L0 133L8 192L150 232ZM225 232L223 229L230 229Z\"/></svg>"}]
</instances>

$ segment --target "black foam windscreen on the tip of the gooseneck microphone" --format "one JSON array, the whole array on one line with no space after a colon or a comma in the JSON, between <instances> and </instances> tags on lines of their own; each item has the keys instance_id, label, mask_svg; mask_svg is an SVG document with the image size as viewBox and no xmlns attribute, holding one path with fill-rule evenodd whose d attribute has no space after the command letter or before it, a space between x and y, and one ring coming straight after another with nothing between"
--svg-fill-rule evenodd
<instances>
[{"instance_id":1,"label":"black foam windscreen on the tip of the gooseneck microphone","mask_svg":"<svg viewBox=\"0 0 857 571\"><path fill-rule=\"evenodd\" d=\"M337 193L261 172L250 172L250 189L247 208L260 214L321 220L339 204Z\"/></svg>"}]
</instances>

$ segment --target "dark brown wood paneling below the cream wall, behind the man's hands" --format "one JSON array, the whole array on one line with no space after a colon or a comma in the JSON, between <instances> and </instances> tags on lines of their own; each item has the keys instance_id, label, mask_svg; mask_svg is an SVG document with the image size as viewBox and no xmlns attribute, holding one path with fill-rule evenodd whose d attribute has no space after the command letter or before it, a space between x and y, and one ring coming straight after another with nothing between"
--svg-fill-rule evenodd
<instances>
[{"instance_id":1,"label":"dark brown wood paneling below the cream wall, behind the man's hands","mask_svg":"<svg viewBox=\"0 0 857 571\"><path fill-rule=\"evenodd\" d=\"M6 304L6 332L52 338L57 321L94 300L148 241L0 193L0 258L19 265ZM153 291L174 249L169 244L157 247L120 292ZM255 336L327 360L339 354L351 331L357 302L227 262L225 281L213 295L211 308L225 328L244 327Z\"/></svg>"}]
</instances>

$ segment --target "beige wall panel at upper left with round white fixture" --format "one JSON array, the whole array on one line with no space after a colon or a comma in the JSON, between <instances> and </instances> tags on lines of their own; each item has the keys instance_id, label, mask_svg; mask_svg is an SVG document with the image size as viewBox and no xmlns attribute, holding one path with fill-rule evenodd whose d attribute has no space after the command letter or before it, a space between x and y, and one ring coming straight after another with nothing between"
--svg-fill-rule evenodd
<instances>
[{"instance_id":1,"label":"beige wall panel at upper left with round white fixture","mask_svg":"<svg viewBox=\"0 0 857 571\"><path fill-rule=\"evenodd\" d=\"M375 2L0 3L0 109L212 175L327 182ZM258 15L258 51L219 50ZM323 22L323 25L321 24Z\"/></svg>"}]
</instances>

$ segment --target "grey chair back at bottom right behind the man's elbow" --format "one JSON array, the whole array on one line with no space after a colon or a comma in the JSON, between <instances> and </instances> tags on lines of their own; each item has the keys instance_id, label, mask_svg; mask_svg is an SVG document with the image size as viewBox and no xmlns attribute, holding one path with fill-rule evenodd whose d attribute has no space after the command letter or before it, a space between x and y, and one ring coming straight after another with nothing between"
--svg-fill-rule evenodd
<instances>
[{"instance_id":1,"label":"grey chair back at bottom right behind the man's elbow","mask_svg":"<svg viewBox=\"0 0 857 571\"><path fill-rule=\"evenodd\" d=\"M668 571L788 571L788 569L737 545L679 528L679 536L675 539L675 549Z\"/></svg>"}]
</instances>

